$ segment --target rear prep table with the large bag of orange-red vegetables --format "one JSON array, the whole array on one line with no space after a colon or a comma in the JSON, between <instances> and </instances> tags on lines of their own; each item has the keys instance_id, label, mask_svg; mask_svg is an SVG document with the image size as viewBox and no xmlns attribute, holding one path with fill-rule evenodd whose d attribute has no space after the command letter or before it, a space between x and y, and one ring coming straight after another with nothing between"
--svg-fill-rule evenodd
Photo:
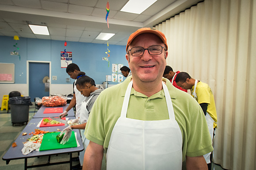
<instances>
[{"instance_id":1,"label":"rear prep table with the large bag of orange-red vegetables","mask_svg":"<svg viewBox=\"0 0 256 170\"><path fill-rule=\"evenodd\" d=\"M52 107L52 108L63 108L63 112L68 108L68 105L64 106L58 106L58 107ZM41 108L36 112L36 114L33 116L33 118L43 118L43 117L58 117L61 113L44 113L46 108L51 108L51 107L45 107L41 106ZM75 116L73 108L68 111L68 117L69 116Z\"/></svg>"}]
</instances>

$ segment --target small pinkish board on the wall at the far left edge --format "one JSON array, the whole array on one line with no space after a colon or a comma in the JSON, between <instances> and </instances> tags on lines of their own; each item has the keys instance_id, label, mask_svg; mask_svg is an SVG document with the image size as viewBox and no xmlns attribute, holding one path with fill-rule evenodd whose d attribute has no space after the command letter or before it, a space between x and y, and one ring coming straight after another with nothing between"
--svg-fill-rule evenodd
<instances>
[{"instance_id":1,"label":"small pinkish board on the wall at the far left edge","mask_svg":"<svg viewBox=\"0 0 256 170\"><path fill-rule=\"evenodd\" d=\"M0 83L14 83L15 65L12 63L0 63Z\"/></svg>"}]
</instances>

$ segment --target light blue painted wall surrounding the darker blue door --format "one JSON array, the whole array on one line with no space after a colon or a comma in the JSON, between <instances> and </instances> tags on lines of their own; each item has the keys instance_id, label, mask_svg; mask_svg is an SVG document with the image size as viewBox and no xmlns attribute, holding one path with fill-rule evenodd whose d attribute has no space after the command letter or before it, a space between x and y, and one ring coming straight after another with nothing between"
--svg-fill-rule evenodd
<instances>
[{"instance_id":1,"label":"light blue painted wall surrounding the darker blue door","mask_svg":"<svg viewBox=\"0 0 256 170\"><path fill-rule=\"evenodd\" d=\"M26 83L26 61L51 61L52 84L72 84L74 81L66 82L69 78L66 68L60 67L60 51L64 51L64 41L41 40L20 37L17 40L16 50L13 45L16 41L10 36L0 36L0 62L15 64L15 83ZM67 41L66 51L72 52L72 62L79 65L81 71L86 72L95 80L96 84L102 84L106 75L112 74L112 64L124 64L128 66L125 59L125 46L109 45L110 57L108 62L102 57L107 57L106 44L80 43ZM19 56L10 55L11 51L19 52ZM117 84L109 82L109 84Z\"/></svg>"}]
</instances>

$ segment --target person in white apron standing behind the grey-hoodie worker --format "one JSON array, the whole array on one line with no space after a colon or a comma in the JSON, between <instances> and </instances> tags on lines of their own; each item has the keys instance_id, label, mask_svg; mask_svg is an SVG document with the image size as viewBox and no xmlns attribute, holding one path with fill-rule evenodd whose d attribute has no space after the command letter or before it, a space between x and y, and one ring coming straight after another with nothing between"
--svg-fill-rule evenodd
<instances>
[{"instance_id":1,"label":"person in white apron standing behind the grey-hoodie worker","mask_svg":"<svg viewBox=\"0 0 256 170\"><path fill-rule=\"evenodd\" d=\"M63 113L60 114L60 117L63 118L64 116L66 116L68 114L68 111L75 106L75 118L79 118L81 104L85 100L85 97L77 90L75 83L76 83L78 75L82 75L82 74L80 73L81 71L80 71L78 65L76 65L75 63L69 64L66 68L66 72L68 73L70 78L75 79L75 82L73 85L74 94L73 94L73 98L70 101L67 109ZM84 75L85 75L85 73L84 73Z\"/></svg>"}]
</instances>

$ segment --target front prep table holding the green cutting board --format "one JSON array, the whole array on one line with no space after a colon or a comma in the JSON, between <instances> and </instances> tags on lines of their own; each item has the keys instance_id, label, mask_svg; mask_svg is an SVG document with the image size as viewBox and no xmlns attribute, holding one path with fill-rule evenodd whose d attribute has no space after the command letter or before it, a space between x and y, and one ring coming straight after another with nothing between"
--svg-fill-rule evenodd
<instances>
[{"instance_id":1,"label":"front prep table holding the green cutting board","mask_svg":"<svg viewBox=\"0 0 256 170\"><path fill-rule=\"evenodd\" d=\"M76 148L63 148L63 149L55 149L55 150L49 150L49 151L32 151L27 155L22 154L22 148L23 148L23 142L26 141L27 138L32 137L32 134L29 135L30 132L34 132L35 129L45 130L49 132L55 132L57 129L63 130L66 126L56 126L56 127L37 127L38 123L41 121L42 118L33 118L30 120L30 122L26 125L23 132L27 132L26 135L22 136L22 133L19 134L19 137L15 140L17 146L15 148L10 147L8 151L3 156L3 160L6 161L6 164L8 164L11 160L15 159L25 159L25 166L24 169L27 168L33 168L33 167L40 167L40 166L49 166L49 165L56 165L56 164L64 164L64 163L70 163L70 170L72 170L72 153L75 152L82 152L83 151L83 143L81 140L81 137L79 135L79 130L74 129L73 131L76 132L77 140L79 142L79 147ZM75 117L71 117L71 119L75 119ZM53 155L60 155L60 154L70 154L70 160L65 162L59 162L59 163L49 163L50 162L50 156ZM39 156L49 156L48 163L41 164L41 165L32 165L27 166L27 159L28 158L34 158Z\"/></svg>"}]
</instances>

